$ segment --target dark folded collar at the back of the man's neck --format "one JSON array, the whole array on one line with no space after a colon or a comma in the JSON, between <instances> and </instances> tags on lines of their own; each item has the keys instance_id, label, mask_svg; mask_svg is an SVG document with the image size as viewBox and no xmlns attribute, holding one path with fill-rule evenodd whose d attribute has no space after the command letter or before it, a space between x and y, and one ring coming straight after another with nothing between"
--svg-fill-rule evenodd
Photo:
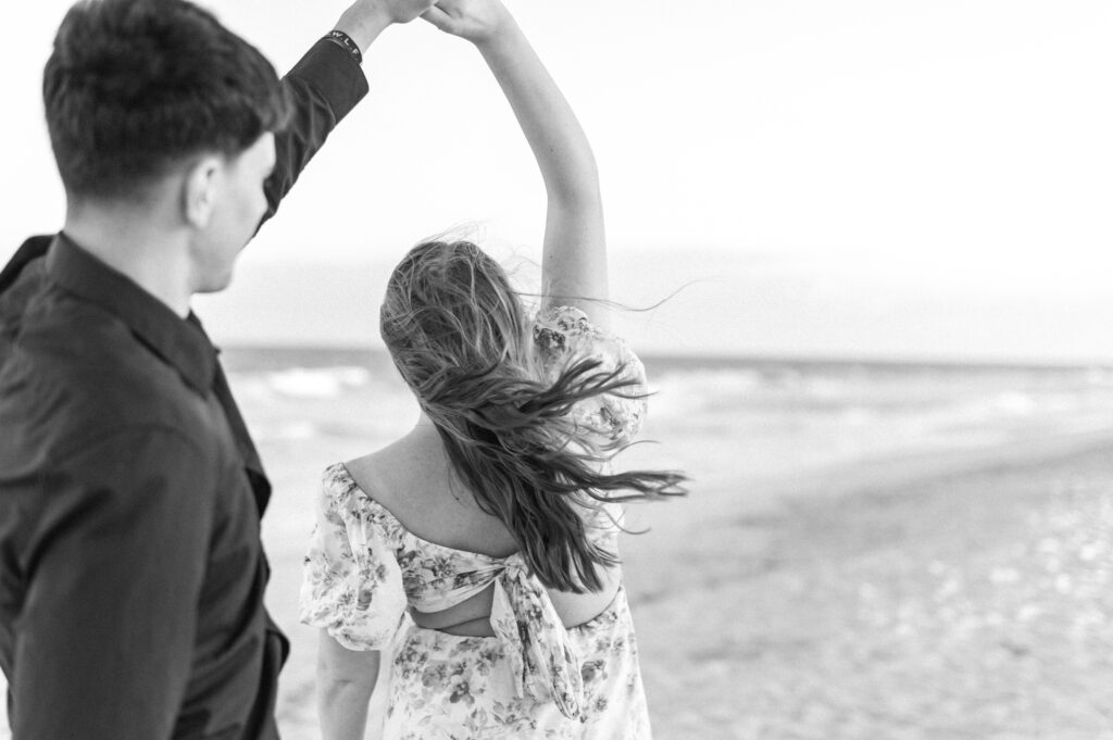
<instances>
[{"instance_id":1,"label":"dark folded collar at the back of the man's neck","mask_svg":"<svg viewBox=\"0 0 1113 740\"><path fill-rule=\"evenodd\" d=\"M201 395L216 377L216 349L200 324L184 319L139 285L76 245L65 234L47 254L47 275L69 293L124 322L147 348Z\"/></svg>"}]
</instances>

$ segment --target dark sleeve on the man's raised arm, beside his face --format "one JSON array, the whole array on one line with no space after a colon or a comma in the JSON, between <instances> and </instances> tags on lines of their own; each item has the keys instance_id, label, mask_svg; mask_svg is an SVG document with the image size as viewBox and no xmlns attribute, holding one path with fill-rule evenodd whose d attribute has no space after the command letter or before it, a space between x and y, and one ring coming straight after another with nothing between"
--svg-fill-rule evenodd
<instances>
[{"instance_id":1,"label":"dark sleeve on the man's raised arm, beside his face","mask_svg":"<svg viewBox=\"0 0 1113 740\"><path fill-rule=\"evenodd\" d=\"M275 134L275 170L264 186L267 211L259 226L275 215L336 125L367 95L367 78L352 55L322 39L283 78L293 116Z\"/></svg>"}]
</instances>

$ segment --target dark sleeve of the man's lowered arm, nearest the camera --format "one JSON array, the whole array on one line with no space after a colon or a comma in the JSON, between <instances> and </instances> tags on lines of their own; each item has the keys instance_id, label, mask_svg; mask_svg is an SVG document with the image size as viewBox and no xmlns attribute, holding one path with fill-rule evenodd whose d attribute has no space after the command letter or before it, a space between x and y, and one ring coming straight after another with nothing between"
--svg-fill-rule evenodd
<instances>
[{"instance_id":1,"label":"dark sleeve of the man's lowered arm, nearest the camera","mask_svg":"<svg viewBox=\"0 0 1113 740\"><path fill-rule=\"evenodd\" d=\"M170 737L211 531L215 482L204 470L184 437L142 428L91 444L42 477L9 677L13 737Z\"/></svg>"}]
</instances>

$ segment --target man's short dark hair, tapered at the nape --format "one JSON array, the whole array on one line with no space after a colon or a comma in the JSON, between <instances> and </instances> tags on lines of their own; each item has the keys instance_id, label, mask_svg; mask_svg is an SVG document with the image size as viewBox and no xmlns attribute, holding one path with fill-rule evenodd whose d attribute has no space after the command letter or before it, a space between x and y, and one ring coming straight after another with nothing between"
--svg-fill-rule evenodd
<instances>
[{"instance_id":1,"label":"man's short dark hair, tapered at the nape","mask_svg":"<svg viewBox=\"0 0 1113 740\"><path fill-rule=\"evenodd\" d=\"M47 127L70 196L131 198L201 154L282 129L269 61L186 0L80 0L43 72Z\"/></svg>"}]
</instances>

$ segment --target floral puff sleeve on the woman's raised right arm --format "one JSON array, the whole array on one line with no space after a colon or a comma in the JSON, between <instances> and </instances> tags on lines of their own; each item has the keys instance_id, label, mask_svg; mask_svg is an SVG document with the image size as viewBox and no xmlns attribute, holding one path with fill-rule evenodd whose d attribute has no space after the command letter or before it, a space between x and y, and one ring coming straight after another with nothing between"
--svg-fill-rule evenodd
<instances>
[{"instance_id":1,"label":"floral puff sleeve on the woman's raised right arm","mask_svg":"<svg viewBox=\"0 0 1113 740\"><path fill-rule=\"evenodd\" d=\"M605 444L621 444L637 436L646 416L646 368L623 339L593 326L579 308L559 306L538 314L533 342L550 382L571 363L585 358L600 361L604 372L620 368L619 377L633 384L577 403L572 417L580 428Z\"/></svg>"}]
</instances>

